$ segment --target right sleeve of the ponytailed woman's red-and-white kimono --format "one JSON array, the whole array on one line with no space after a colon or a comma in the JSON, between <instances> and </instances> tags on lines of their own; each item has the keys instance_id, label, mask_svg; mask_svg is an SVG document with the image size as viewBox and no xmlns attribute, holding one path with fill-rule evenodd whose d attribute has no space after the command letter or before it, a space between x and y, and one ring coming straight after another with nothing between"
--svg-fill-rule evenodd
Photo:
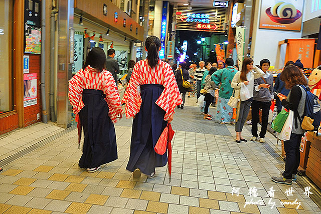
<instances>
[{"instance_id":1,"label":"right sleeve of the ponytailed woman's red-and-white kimono","mask_svg":"<svg viewBox=\"0 0 321 214\"><path fill-rule=\"evenodd\" d=\"M164 90L155 104L166 112L164 120L168 120L174 114L175 107L183 103L175 76L169 66L165 68L163 86Z\"/></svg>"}]
</instances>

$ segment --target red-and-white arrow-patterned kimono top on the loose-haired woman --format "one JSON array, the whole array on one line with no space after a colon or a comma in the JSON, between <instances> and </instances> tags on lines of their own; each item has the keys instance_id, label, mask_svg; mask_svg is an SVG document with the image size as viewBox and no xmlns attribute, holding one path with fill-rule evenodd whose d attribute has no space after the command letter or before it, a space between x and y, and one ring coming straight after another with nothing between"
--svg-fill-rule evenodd
<instances>
[{"instance_id":1,"label":"red-and-white arrow-patterned kimono top on the loose-haired woman","mask_svg":"<svg viewBox=\"0 0 321 214\"><path fill-rule=\"evenodd\" d=\"M103 70L96 72L95 69L87 66L85 70L80 69L69 81L69 101L74 107L74 113L78 114L84 107L82 101L83 89L101 90L106 95L106 103L109 107L109 117L115 123L117 115L122 112L119 92L112 74Z\"/></svg>"}]
</instances>

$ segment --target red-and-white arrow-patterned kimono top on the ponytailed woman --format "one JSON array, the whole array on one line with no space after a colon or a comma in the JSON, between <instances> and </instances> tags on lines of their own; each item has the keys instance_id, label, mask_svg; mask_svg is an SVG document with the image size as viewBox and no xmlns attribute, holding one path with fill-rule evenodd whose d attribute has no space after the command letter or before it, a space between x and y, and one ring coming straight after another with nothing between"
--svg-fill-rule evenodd
<instances>
[{"instance_id":1,"label":"red-and-white arrow-patterned kimono top on the ponytailed woman","mask_svg":"<svg viewBox=\"0 0 321 214\"><path fill-rule=\"evenodd\" d=\"M135 116L140 109L140 85L159 84L164 86L164 91L155 102L166 113L164 120L168 120L174 114L175 107L182 104L182 98L173 69L170 64L158 61L158 65L151 69L147 60L138 61L130 76L129 84L126 88L122 103L126 103L126 118Z\"/></svg>"}]
</instances>

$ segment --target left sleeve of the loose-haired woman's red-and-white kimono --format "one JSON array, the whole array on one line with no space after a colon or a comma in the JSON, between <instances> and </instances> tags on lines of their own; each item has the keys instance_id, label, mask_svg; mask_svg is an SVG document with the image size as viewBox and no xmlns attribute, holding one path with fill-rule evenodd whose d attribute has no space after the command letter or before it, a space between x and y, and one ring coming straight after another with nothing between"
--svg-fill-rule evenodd
<instances>
[{"instance_id":1,"label":"left sleeve of the loose-haired woman's red-and-white kimono","mask_svg":"<svg viewBox=\"0 0 321 214\"><path fill-rule=\"evenodd\" d=\"M83 70L79 70L71 80L69 80L69 93L68 98L70 104L73 106L73 111L78 114L80 110L85 106L82 101L83 93Z\"/></svg>"}]
</instances>

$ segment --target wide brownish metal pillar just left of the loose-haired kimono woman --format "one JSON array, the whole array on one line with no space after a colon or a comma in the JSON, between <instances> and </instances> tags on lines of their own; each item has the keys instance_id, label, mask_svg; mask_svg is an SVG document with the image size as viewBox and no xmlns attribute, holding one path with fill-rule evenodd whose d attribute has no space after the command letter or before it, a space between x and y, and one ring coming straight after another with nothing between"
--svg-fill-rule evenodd
<instances>
[{"instance_id":1,"label":"wide brownish metal pillar just left of the loose-haired kimono woman","mask_svg":"<svg viewBox=\"0 0 321 214\"><path fill-rule=\"evenodd\" d=\"M71 109L68 110L68 81L71 76L71 43L73 37L74 0L59 0L58 13L58 81L57 125L71 125ZM73 40L73 38L72 38Z\"/></svg>"}]
</instances>

